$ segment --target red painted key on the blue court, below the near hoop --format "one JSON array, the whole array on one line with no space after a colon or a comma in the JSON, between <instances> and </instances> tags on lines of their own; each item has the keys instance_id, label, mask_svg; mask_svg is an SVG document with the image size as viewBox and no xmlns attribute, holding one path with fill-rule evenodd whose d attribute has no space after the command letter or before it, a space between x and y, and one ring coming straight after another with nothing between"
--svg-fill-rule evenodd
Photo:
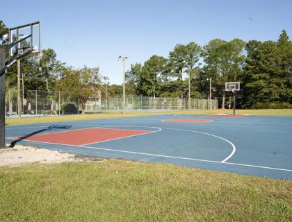
<instances>
[{"instance_id":1,"label":"red painted key on the blue court, below the near hoop","mask_svg":"<svg viewBox=\"0 0 292 222\"><path fill-rule=\"evenodd\" d=\"M86 144L93 144L97 142L104 142L112 139L119 139L123 137L131 137L150 133L146 130L122 130L109 128L86 128L80 130L70 130L57 133L44 133L39 135L32 135L31 137L17 137L15 139L23 139L32 142L45 142L51 144L66 144L81 146Z\"/></svg>"}]
</instances>

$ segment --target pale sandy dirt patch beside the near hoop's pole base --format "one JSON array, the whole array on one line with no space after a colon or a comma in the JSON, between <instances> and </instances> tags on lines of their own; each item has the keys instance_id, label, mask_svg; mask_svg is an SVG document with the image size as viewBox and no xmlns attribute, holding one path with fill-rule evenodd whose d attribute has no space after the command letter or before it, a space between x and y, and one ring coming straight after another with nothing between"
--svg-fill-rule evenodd
<instances>
[{"instance_id":1,"label":"pale sandy dirt patch beside the near hoop's pole base","mask_svg":"<svg viewBox=\"0 0 292 222\"><path fill-rule=\"evenodd\" d=\"M60 153L46 148L35 148L32 146L15 145L13 148L0 149L0 167L26 164L33 162L59 163L80 162L81 157L70 153Z\"/></svg>"}]
</instances>

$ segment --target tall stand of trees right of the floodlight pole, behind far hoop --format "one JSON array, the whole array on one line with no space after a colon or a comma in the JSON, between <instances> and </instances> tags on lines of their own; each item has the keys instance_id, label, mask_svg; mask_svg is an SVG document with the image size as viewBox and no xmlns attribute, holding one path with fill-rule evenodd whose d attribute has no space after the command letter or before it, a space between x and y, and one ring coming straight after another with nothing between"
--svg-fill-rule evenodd
<instances>
[{"instance_id":1,"label":"tall stand of trees right of the floodlight pole, behind far hoop","mask_svg":"<svg viewBox=\"0 0 292 222\"><path fill-rule=\"evenodd\" d=\"M127 71L127 93L145 96L208 98L225 108L232 93L226 82L239 81L239 108L292 108L292 42L282 31L277 42L240 39L177 44L168 58L151 56Z\"/></svg>"}]
</instances>

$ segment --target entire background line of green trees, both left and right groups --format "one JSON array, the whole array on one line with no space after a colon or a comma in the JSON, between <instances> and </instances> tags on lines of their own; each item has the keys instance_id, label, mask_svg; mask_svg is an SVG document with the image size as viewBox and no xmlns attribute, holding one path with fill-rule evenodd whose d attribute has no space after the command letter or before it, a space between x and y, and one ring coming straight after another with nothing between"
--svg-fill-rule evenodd
<instances>
[{"instance_id":1,"label":"entire background line of green trees, both left and right groups","mask_svg":"<svg viewBox=\"0 0 292 222\"><path fill-rule=\"evenodd\" d=\"M0 20L0 36L7 33ZM0 40L0 45L5 44ZM111 85L99 67L75 69L57 60L54 49L22 58L21 73L26 90L74 92L85 105L97 91L102 96L122 94L122 85ZM128 95L218 99L220 107L232 102L225 83L239 81L238 108L292 108L292 42L286 31L277 41L240 39L177 44L168 58L151 56L143 64L131 64L126 72ZM6 72L6 88L17 85L17 66ZM24 91L25 93L25 91Z\"/></svg>"}]
</instances>

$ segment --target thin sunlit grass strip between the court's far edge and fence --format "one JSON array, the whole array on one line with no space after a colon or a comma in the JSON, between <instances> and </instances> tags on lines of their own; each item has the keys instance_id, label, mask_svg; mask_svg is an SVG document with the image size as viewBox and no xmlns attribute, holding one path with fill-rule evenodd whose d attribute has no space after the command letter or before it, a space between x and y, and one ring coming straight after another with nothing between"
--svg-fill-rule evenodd
<instances>
[{"instance_id":1,"label":"thin sunlit grass strip between the court's far edge and fence","mask_svg":"<svg viewBox=\"0 0 292 222\"><path fill-rule=\"evenodd\" d=\"M159 114L218 114L228 113L233 114L233 110L195 110L195 111L177 111L177 112L120 112L101 113L101 114L80 114L66 115L56 117L26 117L26 118L6 118L6 124L18 125L29 123L51 123L59 121L76 121L83 119L105 119L105 118L122 118L122 117L139 117ZM236 114L255 114L255 115L292 115L292 109L279 110L236 110Z\"/></svg>"}]
</instances>

